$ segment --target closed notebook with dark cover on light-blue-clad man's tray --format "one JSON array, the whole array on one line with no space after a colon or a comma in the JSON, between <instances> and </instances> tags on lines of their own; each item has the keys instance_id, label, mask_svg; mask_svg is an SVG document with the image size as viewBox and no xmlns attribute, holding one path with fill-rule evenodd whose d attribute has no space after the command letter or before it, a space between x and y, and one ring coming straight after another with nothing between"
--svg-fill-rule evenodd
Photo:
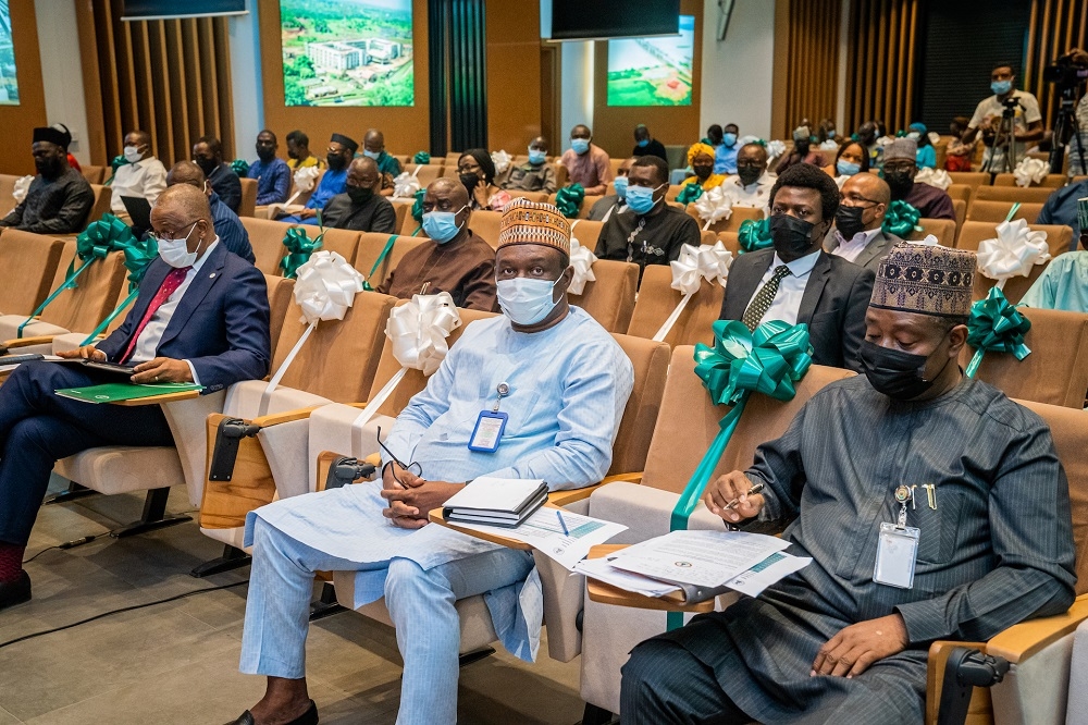
<instances>
[{"instance_id":1,"label":"closed notebook with dark cover on light-blue-clad man's tray","mask_svg":"<svg viewBox=\"0 0 1088 725\"><path fill-rule=\"evenodd\" d=\"M540 479L481 476L446 501L442 515L448 521L514 527L547 501L547 484Z\"/></svg>"}]
</instances>

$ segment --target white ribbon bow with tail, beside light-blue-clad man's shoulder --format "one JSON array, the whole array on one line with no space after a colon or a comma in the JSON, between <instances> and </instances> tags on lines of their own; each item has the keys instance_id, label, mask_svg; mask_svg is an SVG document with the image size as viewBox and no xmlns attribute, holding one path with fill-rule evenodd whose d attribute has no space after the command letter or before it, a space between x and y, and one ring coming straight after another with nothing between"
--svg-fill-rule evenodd
<instances>
[{"instance_id":1,"label":"white ribbon bow with tail, beside light-blue-clad man's shoulder","mask_svg":"<svg viewBox=\"0 0 1088 725\"><path fill-rule=\"evenodd\" d=\"M393 345L393 357L401 368L374 394L362 413L351 421L351 435L359 439L363 427L374 417L382 404L393 394L409 370L421 370L432 376L449 353L446 337L461 327L454 298L448 292L436 295L415 295L407 305L394 307L385 324L385 335Z\"/></svg>"}]
</instances>

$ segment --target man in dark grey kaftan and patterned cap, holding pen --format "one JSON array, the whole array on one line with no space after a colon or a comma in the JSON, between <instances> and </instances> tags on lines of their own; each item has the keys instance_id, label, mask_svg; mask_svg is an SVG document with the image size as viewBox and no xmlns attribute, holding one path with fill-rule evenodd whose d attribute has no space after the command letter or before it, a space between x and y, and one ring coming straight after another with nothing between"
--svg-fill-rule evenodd
<instances>
[{"instance_id":1,"label":"man in dark grey kaftan and patterned cap, holding pen","mask_svg":"<svg viewBox=\"0 0 1088 725\"><path fill-rule=\"evenodd\" d=\"M957 364L974 270L969 251L895 247L865 317L864 374L816 393L751 468L707 487L728 524L789 523L787 551L812 563L635 647L625 725L922 723L934 640L1068 610L1073 521L1050 429Z\"/></svg>"}]
</instances>

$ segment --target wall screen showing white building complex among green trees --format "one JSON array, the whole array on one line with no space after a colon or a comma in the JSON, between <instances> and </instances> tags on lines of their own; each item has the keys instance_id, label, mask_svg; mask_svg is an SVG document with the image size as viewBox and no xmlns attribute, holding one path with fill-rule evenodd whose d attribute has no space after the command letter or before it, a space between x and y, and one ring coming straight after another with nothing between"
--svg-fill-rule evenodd
<instances>
[{"instance_id":1,"label":"wall screen showing white building complex among green trees","mask_svg":"<svg viewBox=\"0 0 1088 725\"><path fill-rule=\"evenodd\" d=\"M281 0L287 106L412 106L411 0Z\"/></svg>"}]
</instances>

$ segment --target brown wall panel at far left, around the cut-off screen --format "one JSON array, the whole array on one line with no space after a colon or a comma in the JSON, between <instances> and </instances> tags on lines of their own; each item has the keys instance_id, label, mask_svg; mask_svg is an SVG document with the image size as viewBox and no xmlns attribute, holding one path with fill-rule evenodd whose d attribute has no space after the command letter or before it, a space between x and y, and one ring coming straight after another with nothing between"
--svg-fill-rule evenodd
<instances>
[{"instance_id":1,"label":"brown wall panel at far left, around the cut-off screen","mask_svg":"<svg viewBox=\"0 0 1088 725\"><path fill-rule=\"evenodd\" d=\"M47 123L46 95L41 85L41 56L34 0L11 0L11 39L15 47L18 106L0 106L0 126L9 150L0 157L0 173L33 174L30 143L34 128Z\"/></svg>"}]
</instances>

